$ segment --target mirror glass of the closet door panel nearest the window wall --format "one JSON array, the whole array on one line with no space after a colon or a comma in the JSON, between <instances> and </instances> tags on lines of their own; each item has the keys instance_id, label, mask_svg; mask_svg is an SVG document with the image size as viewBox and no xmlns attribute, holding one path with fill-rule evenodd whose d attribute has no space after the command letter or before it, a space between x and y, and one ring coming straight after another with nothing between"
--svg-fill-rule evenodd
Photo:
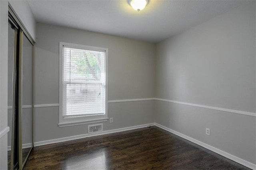
<instances>
[{"instance_id":1,"label":"mirror glass of the closet door panel nearest the window wall","mask_svg":"<svg viewBox=\"0 0 256 170\"><path fill-rule=\"evenodd\" d=\"M33 72L33 45L26 35L23 35L22 57L22 164L33 146L32 137L32 72Z\"/></svg>"}]
</instances>

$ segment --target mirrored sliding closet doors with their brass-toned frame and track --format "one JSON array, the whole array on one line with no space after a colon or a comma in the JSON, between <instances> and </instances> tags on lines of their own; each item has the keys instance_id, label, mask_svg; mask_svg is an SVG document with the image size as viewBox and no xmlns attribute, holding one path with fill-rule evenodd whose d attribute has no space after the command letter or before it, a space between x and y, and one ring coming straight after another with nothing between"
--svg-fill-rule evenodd
<instances>
[{"instance_id":1,"label":"mirrored sliding closet doors with their brass-toned frame and track","mask_svg":"<svg viewBox=\"0 0 256 170\"><path fill-rule=\"evenodd\" d=\"M23 169L33 148L33 45L9 7L8 169Z\"/></svg>"}]
</instances>

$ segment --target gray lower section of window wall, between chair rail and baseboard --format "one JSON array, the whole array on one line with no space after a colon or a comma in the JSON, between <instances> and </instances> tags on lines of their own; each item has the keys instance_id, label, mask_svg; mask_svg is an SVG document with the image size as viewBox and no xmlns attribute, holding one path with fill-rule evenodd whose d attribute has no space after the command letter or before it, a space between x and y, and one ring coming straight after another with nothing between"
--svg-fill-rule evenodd
<instances>
[{"instance_id":1,"label":"gray lower section of window wall, between chair rail and baseboard","mask_svg":"<svg viewBox=\"0 0 256 170\"><path fill-rule=\"evenodd\" d=\"M58 127L58 106L34 108L34 142L77 136L88 133L88 124ZM108 104L108 117L103 131L154 122L154 100Z\"/></svg>"}]
</instances>

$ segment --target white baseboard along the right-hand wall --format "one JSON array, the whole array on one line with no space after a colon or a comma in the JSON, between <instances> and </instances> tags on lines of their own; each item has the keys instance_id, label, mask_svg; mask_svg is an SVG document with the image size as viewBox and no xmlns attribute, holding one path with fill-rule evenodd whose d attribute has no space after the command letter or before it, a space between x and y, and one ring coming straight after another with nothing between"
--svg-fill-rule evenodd
<instances>
[{"instance_id":1,"label":"white baseboard along the right-hand wall","mask_svg":"<svg viewBox=\"0 0 256 170\"><path fill-rule=\"evenodd\" d=\"M167 127L165 127L165 126L162 126L162 125L160 125L160 124L154 123L154 125L157 126L157 127L159 127L159 128L162 128L162 129L164 129L164 130L166 130L166 131L168 131L168 132L171 132L171 133L173 133L173 134L176 134L177 136L180 136L180 137L182 137L182 138L184 138L184 139L186 139L186 140L189 140L190 142L193 142L193 143L195 143L195 144L198 144L198 145L200 145L200 146L202 146L202 147L204 147L204 148L206 148L206 149L208 149L208 150L211 150L212 152L215 152L215 153L217 153L217 154L220 154L221 156L224 156L224 157L226 157L226 158L228 158L228 159L230 159L230 160L233 160L233 161L235 161L235 162L237 162L237 163L239 163L239 164L242 164L242 165L244 165L244 166L246 166L246 167L248 167L248 168L251 168L252 170L256 170L256 164L253 164L253 163L251 163L251 162L248 162L248 161L246 161L246 160L243 160L243 159L241 159L241 158L238 158L238 157L236 157L236 156L234 156L234 155L232 155L232 154L229 154L229 153L227 153L227 152L224 152L223 150L220 150L220 149L218 149L218 148L215 148L215 147L213 147L213 146L210 146L210 145L208 145L208 144L206 144L206 143L204 143L204 142L201 142L201 141L199 141L199 140L196 140L196 139L194 139L194 138L191 138L191 137L189 137L189 136L186 136L186 135L184 135L184 134L182 134L182 133L180 133L180 132L177 132L177 131L175 131L175 130L172 130L172 129L170 129L170 128L167 128Z\"/></svg>"}]
</instances>

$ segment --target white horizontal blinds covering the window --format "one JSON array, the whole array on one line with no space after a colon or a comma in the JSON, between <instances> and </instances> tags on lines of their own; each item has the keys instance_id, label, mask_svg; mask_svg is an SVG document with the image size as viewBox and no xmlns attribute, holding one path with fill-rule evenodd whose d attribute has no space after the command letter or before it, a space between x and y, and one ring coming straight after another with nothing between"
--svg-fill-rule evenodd
<instances>
[{"instance_id":1,"label":"white horizontal blinds covering the window","mask_svg":"<svg viewBox=\"0 0 256 170\"><path fill-rule=\"evenodd\" d=\"M105 53L63 47L63 116L105 114Z\"/></svg>"}]
</instances>

